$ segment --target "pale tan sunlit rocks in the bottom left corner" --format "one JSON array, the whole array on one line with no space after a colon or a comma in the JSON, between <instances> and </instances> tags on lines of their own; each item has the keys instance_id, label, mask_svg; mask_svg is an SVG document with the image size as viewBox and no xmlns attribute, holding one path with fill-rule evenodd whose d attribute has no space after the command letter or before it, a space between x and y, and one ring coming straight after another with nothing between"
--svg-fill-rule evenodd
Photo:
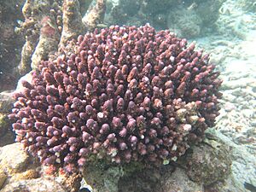
<instances>
[{"instance_id":1,"label":"pale tan sunlit rocks in the bottom left corner","mask_svg":"<svg viewBox=\"0 0 256 192\"><path fill-rule=\"evenodd\" d=\"M26 154L22 144L0 148L0 189L2 191L58 191L79 190L79 174L55 172L52 167L40 166L38 160Z\"/></svg>"}]
</instances>

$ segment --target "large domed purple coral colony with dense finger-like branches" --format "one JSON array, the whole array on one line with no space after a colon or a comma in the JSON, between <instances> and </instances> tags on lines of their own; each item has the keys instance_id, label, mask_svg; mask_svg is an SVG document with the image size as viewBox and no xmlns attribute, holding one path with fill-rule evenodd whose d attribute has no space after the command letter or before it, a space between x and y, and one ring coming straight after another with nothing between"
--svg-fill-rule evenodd
<instances>
[{"instance_id":1,"label":"large domed purple coral colony with dense finger-like branches","mask_svg":"<svg viewBox=\"0 0 256 192\"><path fill-rule=\"evenodd\" d=\"M201 142L218 116L221 80L208 55L172 32L110 26L73 53L42 61L15 93L16 141L44 165L90 160L160 165Z\"/></svg>"}]
</instances>

